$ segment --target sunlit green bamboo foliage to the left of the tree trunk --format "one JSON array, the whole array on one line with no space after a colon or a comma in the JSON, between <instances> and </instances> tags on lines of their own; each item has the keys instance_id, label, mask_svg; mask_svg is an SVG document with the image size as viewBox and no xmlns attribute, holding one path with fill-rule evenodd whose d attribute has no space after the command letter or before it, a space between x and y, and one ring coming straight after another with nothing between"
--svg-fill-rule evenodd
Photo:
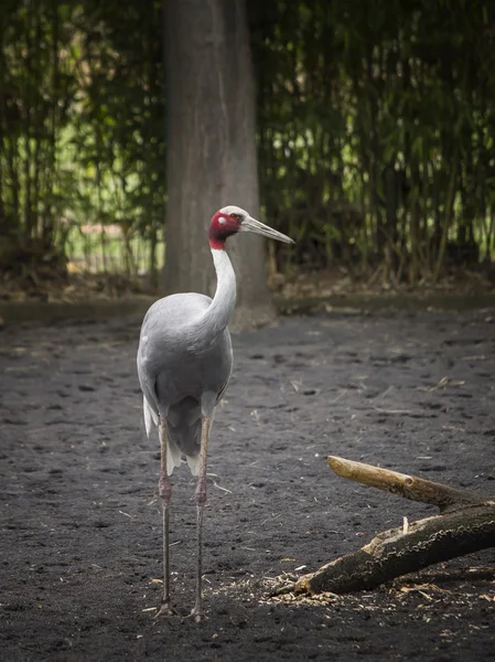
<instances>
[{"instance_id":1,"label":"sunlit green bamboo foliage to the left of the tree trunk","mask_svg":"<svg viewBox=\"0 0 495 662\"><path fill-rule=\"evenodd\" d=\"M148 239L157 270L160 2L37 0L0 12L1 234L65 252L74 224L117 224L127 271L136 270L134 235Z\"/></svg>"}]
</instances>

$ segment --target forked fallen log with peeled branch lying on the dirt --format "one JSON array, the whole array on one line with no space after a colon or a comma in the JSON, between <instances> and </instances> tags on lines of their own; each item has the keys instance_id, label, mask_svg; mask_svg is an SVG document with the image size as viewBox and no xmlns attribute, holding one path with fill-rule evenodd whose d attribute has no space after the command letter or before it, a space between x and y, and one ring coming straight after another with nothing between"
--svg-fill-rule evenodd
<instances>
[{"instance_id":1,"label":"forked fallen log with peeled branch lying on the dirt","mask_svg":"<svg viewBox=\"0 0 495 662\"><path fill-rule=\"evenodd\" d=\"M495 546L495 499L343 458L330 457L327 462L337 476L433 503L442 514L385 531L357 552L300 577L280 592L369 590L441 560Z\"/></svg>"}]
</instances>

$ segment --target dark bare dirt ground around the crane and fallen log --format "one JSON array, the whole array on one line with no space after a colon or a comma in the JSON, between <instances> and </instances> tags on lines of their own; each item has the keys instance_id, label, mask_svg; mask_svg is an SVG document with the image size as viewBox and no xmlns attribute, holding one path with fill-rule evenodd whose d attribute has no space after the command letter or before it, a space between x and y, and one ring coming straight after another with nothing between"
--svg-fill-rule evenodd
<instances>
[{"instance_id":1,"label":"dark bare dirt ground around the crane and fallen log","mask_svg":"<svg viewBox=\"0 0 495 662\"><path fill-rule=\"evenodd\" d=\"M234 339L209 449L207 620L194 601L194 480L173 476L160 601L158 439L140 320L0 331L0 658L495 660L494 549L379 590L270 597L434 509L334 477L330 453L495 493L495 310L284 318Z\"/></svg>"}]
</instances>

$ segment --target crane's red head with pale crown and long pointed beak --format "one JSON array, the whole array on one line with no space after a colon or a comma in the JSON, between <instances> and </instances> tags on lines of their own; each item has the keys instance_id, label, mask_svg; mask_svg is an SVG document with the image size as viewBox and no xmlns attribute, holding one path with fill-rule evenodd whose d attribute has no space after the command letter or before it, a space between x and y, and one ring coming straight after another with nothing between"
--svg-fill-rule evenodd
<instances>
[{"instance_id":1,"label":"crane's red head with pale crown and long pointed beak","mask_svg":"<svg viewBox=\"0 0 495 662\"><path fill-rule=\"evenodd\" d=\"M219 210L209 224L209 247L216 250L225 249L226 239L238 232L254 232L271 239L293 244L294 242L268 225L256 221L249 214L233 204Z\"/></svg>"}]
</instances>

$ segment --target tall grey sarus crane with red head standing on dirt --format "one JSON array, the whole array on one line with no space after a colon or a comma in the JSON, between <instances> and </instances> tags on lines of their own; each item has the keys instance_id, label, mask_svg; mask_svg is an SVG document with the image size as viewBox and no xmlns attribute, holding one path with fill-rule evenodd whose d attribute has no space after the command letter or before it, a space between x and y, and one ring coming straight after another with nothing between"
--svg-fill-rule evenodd
<instances>
[{"instance_id":1,"label":"tall grey sarus crane with red head standing on dirt","mask_svg":"<svg viewBox=\"0 0 495 662\"><path fill-rule=\"evenodd\" d=\"M228 205L214 214L209 247L217 286L212 300L194 292L155 301L142 322L138 375L143 393L148 436L158 427L161 451L159 493L163 511L163 595L155 616L173 613L170 600L169 508L170 476L185 456L193 476L197 527L196 601L191 617L204 618L202 605L202 536L206 502L206 451L215 408L227 388L233 369L228 321L236 301L236 276L225 250L226 239L252 232L279 242L291 238Z\"/></svg>"}]
</instances>

